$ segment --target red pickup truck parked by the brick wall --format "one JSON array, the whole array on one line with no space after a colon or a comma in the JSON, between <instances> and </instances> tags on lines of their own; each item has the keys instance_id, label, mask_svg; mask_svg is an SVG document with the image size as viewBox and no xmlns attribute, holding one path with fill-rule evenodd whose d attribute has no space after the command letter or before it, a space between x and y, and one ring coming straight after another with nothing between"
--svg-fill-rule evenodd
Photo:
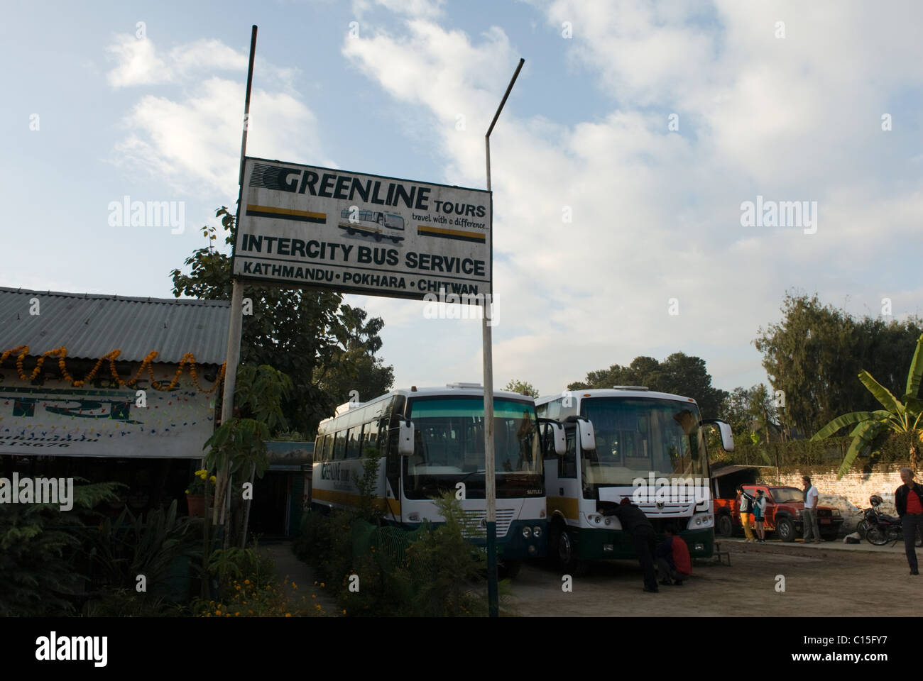
<instances>
[{"instance_id":1,"label":"red pickup truck parked by the brick wall","mask_svg":"<svg viewBox=\"0 0 923 681\"><path fill-rule=\"evenodd\" d=\"M777 484L742 484L741 487L750 496L756 496L756 490L761 489L766 498L765 529L766 532L775 532L783 542L794 542L802 536L802 513L805 508L804 491L797 487L788 487ZM715 532L724 537L733 534L743 534L740 523L740 496L733 498L714 498L714 527ZM818 506L818 529L821 538L830 542L836 539L843 517L836 508ZM755 528L756 523L750 516L750 527Z\"/></svg>"}]
</instances>

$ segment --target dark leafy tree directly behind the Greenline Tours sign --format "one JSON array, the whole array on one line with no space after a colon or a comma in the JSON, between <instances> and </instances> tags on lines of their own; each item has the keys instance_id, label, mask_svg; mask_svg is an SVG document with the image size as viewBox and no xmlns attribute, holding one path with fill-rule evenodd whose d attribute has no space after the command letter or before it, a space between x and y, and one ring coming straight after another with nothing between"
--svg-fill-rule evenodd
<instances>
[{"instance_id":1,"label":"dark leafy tree directly behind the Greenline Tours sign","mask_svg":"<svg viewBox=\"0 0 923 681\"><path fill-rule=\"evenodd\" d=\"M233 245L234 215L226 207L215 215L222 219L224 243ZM231 257L212 245L218 230L206 226L202 233L209 245L186 258L188 273L179 269L171 272L173 293L176 297L230 300ZM378 332L384 322L380 317L366 322L364 310L341 305L340 293L248 282L244 297L253 301L253 314L244 317L240 364L269 364L291 378L290 397L282 405L290 428L314 433L318 422L343 401L341 393L347 384L357 384L360 388L356 389L374 395L390 388L391 367L374 357L381 347ZM367 387L360 379L369 381Z\"/></svg>"}]
</instances>

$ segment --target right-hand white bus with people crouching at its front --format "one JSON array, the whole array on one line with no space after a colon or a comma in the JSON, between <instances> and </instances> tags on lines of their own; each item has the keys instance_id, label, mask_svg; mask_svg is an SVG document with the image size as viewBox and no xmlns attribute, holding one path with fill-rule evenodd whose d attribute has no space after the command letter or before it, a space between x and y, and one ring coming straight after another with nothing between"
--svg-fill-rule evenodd
<instances>
[{"instance_id":1,"label":"right-hand white bus with people crouching at its front","mask_svg":"<svg viewBox=\"0 0 923 681\"><path fill-rule=\"evenodd\" d=\"M586 561L636 557L608 504L631 498L663 532L673 523L690 556L712 556L714 516L703 423L734 448L730 426L702 422L695 400L617 386L570 390L535 400L539 417L563 422L565 454L545 435L548 553L580 572Z\"/></svg>"}]
</instances>

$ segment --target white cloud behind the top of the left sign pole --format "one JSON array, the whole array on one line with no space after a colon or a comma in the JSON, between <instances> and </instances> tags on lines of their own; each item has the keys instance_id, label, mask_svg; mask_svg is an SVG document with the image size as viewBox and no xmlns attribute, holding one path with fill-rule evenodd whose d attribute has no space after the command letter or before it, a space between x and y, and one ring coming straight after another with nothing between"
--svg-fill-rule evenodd
<instances>
[{"instance_id":1,"label":"white cloud behind the top of the left sign pole","mask_svg":"<svg viewBox=\"0 0 923 681\"><path fill-rule=\"evenodd\" d=\"M138 43L138 46L135 43ZM198 40L160 57L150 39L120 36L111 48L119 60L113 87L169 82L179 93L145 94L126 115L126 137L112 161L159 177L183 195L235 197L240 164L247 55L221 41ZM312 158L330 163L320 149L315 115L291 87L293 72L258 63L269 89L254 87L247 154ZM220 78L231 71L239 79Z\"/></svg>"}]
</instances>

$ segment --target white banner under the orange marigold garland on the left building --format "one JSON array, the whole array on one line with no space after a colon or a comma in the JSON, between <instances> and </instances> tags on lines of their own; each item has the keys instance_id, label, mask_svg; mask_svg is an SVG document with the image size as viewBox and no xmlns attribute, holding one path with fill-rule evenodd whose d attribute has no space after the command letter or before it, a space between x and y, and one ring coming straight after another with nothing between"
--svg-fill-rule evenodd
<instances>
[{"instance_id":1,"label":"white banner under the orange marigold garland on the left building","mask_svg":"<svg viewBox=\"0 0 923 681\"><path fill-rule=\"evenodd\" d=\"M158 380L169 383L176 365L155 367ZM182 384L163 391L148 380L131 388L74 388L48 379L33 386L7 375L0 383L0 454L199 459L214 430L214 400Z\"/></svg>"}]
</instances>

